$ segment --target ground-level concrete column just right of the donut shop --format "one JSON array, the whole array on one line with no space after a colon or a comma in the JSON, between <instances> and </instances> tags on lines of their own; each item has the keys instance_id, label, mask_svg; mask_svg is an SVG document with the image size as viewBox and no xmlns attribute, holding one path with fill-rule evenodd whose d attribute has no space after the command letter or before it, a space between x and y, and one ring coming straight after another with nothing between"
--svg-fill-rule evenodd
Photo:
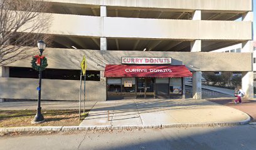
<instances>
[{"instance_id":1,"label":"ground-level concrete column just right of the donut shop","mask_svg":"<svg viewBox=\"0 0 256 150\"><path fill-rule=\"evenodd\" d=\"M202 89L201 89L201 71L193 72L193 99L201 99L202 98Z\"/></svg>"}]
</instances>

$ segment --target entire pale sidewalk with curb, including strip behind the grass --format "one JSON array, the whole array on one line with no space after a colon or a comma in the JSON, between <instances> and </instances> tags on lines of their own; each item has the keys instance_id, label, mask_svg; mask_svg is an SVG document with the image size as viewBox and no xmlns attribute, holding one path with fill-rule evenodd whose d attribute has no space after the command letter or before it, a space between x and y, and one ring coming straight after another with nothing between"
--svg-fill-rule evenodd
<instances>
[{"instance_id":1,"label":"entire pale sidewalk with curb, including strip behind the grass","mask_svg":"<svg viewBox=\"0 0 256 150\"><path fill-rule=\"evenodd\" d=\"M204 99L144 99L86 102L91 109L80 126L0 128L6 131L138 129L247 124L250 116ZM43 109L78 109L78 102L44 101ZM0 110L36 109L36 102L4 102Z\"/></svg>"}]
</instances>

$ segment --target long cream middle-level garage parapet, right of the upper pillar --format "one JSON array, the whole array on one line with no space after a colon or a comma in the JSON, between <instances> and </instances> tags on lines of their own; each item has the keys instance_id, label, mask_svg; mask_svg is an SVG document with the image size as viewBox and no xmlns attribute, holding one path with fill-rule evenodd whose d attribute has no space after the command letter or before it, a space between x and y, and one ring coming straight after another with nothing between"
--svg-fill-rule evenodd
<instances>
[{"instance_id":1,"label":"long cream middle-level garage parapet, right of the upper pillar","mask_svg":"<svg viewBox=\"0 0 256 150\"><path fill-rule=\"evenodd\" d=\"M250 40L252 22L104 17L104 37Z\"/></svg>"}]
</instances>

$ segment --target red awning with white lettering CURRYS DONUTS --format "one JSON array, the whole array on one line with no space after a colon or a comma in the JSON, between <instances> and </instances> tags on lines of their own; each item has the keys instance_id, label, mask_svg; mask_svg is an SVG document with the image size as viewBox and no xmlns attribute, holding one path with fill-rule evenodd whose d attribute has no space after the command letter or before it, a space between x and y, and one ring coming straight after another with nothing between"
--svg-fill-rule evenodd
<instances>
[{"instance_id":1,"label":"red awning with white lettering CURRYS DONUTS","mask_svg":"<svg viewBox=\"0 0 256 150\"><path fill-rule=\"evenodd\" d=\"M178 78L190 76L192 76L192 74L184 65L128 66L122 64L107 64L105 67L105 77Z\"/></svg>"}]
</instances>

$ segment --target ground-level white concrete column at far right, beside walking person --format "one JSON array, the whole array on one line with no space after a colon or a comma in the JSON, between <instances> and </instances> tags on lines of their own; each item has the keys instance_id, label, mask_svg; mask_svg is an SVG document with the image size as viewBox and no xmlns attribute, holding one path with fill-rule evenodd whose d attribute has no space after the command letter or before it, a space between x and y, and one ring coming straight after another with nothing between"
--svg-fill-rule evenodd
<instances>
[{"instance_id":1,"label":"ground-level white concrete column at far right, beside walking person","mask_svg":"<svg viewBox=\"0 0 256 150\"><path fill-rule=\"evenodd\" d=\"M242 89L245 92L245 98L253 98L253 71L242 73Z\"/></svg>"}]
</instances>

